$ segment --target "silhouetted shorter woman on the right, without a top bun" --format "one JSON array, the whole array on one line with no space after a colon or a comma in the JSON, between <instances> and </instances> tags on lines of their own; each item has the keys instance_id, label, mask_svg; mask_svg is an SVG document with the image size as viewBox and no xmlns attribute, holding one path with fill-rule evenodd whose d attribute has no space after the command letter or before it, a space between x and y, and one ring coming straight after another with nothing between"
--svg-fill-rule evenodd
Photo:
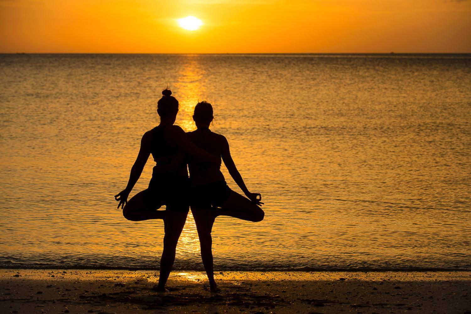
<instances>
[{"instance_id":1,"label":"silhouetted shorter woman on the right, without a top bun","mask_svg":"<svg viewBox=\"0 0 471 314\"><path fill-rule=\"evenodd\" d=\"M190 158L191 212L195 218L201 246L201 258L208 275L211 291L217 291L214 281L211 230L218 216L230 216L248 221L263 220L264 212L257 206L263 204L260 193L251 193L235 167L226 137L209 129L214 119L210 103L202 101L195 107L193 120L197 129L189 132L188 138L199 148L222 158L229 174L244 192L244 196L232 191L220 170L221 161L209 163Z\"/></svg>"}]
</instances>

